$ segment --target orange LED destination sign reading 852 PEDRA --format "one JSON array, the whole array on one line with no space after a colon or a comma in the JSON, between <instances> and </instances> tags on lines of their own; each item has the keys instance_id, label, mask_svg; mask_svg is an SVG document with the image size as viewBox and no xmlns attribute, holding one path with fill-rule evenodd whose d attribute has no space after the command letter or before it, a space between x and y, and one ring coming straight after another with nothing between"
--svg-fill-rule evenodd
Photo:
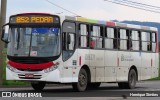
<instances>
[{"instance_id":1,"label":"orange LED destination sign reading 852 PEDRA","mask_svg":"<svg viewBox=\"0 0 160 100\"><path fill-rule=\"evenodd\" d=\"M59 19L51 15L19 15L12 16L10 23L58 23Z\"/></svg>"}]
</instances>

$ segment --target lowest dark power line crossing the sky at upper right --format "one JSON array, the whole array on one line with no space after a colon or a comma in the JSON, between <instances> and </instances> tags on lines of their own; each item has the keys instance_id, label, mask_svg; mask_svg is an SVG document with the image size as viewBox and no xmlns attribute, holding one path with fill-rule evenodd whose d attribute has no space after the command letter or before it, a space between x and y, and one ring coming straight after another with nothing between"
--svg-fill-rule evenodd
<instances>
[{"instance_id":1,"label":"lowest dark power line crossing the sky at upper right","mask_svg":"<svg viewBox=\"0 0 160 100\"><path fill-rule=\"evenodd\" d=\"M132 7L132 8L136 8L136 9L140 9L140 10L145 10L145 11L149 11L149 12L160 13L159 11L154 11L154 10L145 9L145 8L141 8L141 7L137 7L137 6L127 5L127 4L124 4L124 3L115 2L115 1L111 1L111 0L104 0L104 1L108 1L108 2L111 2L111 3L114 3L114 4L123 5L123 6L127 6L127 7Z\"/></svg>"}]
</instances>

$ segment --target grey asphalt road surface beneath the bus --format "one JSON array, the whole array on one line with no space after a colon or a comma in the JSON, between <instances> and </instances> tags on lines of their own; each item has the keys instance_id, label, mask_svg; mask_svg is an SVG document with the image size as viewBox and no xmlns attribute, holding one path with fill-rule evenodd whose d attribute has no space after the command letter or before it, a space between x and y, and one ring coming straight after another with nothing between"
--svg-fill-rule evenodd
<instances>
[{"instance_id":1,"label":"grey asphalt road surface beneath the bus","mask_svg":"<svg viewBox=\"0 0 160 100\"><path fill-rule=\"evenodd\" d=\"M39 93L43 98L38 100L160 100L160 81L141 81L135 89L119 89L116 83L102 83L98 89L89 89L85 92L75 92L71 85L49 85L42 92L36 92L31 87L0 88L1 92L11 92L11 100L22 100L18 93ZM0 94L2 96L2 93ZM1 98L8 100L8 98ZM29 98L23 98L28 100ZM33 98L30 98L33 99Z\"/></svg>"}]
</instances>

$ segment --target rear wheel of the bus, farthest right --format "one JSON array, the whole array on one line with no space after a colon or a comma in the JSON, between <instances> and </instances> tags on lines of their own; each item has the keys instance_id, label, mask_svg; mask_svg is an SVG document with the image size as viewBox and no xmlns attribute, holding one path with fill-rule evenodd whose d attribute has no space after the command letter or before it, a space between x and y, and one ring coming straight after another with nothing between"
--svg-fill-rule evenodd
<instances>
[{"instance_id":1,"label":"rear wheel of the bus, farthest right","mask_svg":"<svg viewBox=\"0 0 160 100\"><path fill-rule=\"evenodd\" d=\"M134 69L131 69L128 74L128 82L126 85L127 89L134 89L137 82L137 74Z\"/></svg>"}]
</instances>

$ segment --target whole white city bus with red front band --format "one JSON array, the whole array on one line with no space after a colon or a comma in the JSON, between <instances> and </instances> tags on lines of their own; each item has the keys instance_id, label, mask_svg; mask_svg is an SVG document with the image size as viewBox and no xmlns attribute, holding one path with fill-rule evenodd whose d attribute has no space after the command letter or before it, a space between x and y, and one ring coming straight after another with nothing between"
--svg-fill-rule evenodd
<instances>
[{"instance_id":1,"label":"whole white city bus with red front band","mask_svg":"<svg viewBox=\"0 0 160 100\"><path fill-rule=\"evenodd\" d=\"M5 27L9 26L8 35ZM116 82L135 88L136 82L158 77L158 29L44 13L13 15L3 27L7 43L7 80L70 83L85 91Z\"/></svg>"}]
</instances>

